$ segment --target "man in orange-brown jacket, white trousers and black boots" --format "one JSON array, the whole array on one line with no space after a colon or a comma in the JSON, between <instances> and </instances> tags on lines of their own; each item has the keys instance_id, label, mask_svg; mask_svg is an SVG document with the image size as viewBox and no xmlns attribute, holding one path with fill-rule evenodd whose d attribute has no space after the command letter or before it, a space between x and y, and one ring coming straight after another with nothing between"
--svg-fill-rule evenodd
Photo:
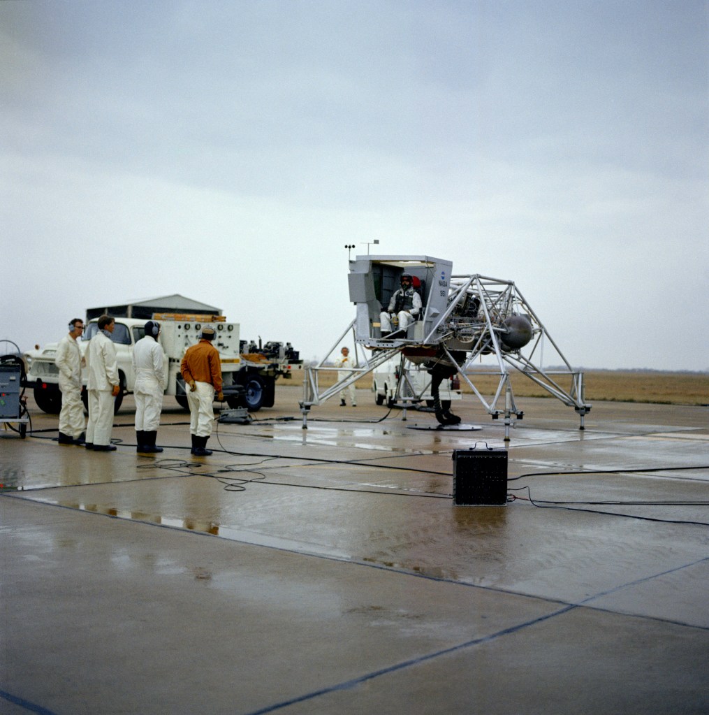
<instances>
[{"instance_id":1,"label":"man in orange-brown jacket, white trousers and black boots","mask_svg":"<svg viewBox=\"0 0 709 715\"><path fill-rule=\"evenodd\" d=\"M219 351L212 345L216 335L213 327L202 328L201 339L197 345L187 348L180 365L189 405L192 454L197 457L212 454L212 450L206 447L207 440L212 435L214 393L217 393L217 400L224 400L222 363L219 360Z\"/></svg>"}]
</instances>

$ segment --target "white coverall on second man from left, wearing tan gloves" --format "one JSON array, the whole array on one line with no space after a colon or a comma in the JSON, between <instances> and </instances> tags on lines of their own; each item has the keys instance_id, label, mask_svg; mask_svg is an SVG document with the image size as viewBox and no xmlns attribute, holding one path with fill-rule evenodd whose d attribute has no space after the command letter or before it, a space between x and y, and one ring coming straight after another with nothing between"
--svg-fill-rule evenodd
<instances>
[{"instance_id":1,"label":"white coverall on second man from left, wearing tan gloves","mask_svg":"<svg viewBox=\"0 0 709 715\"><path fill-rule=\"evenodd\" d=\"M108 445L113 427L114 385L119 385L116 347L103 332L94 335L86 351L89 369L89 425L86 427L86 443Z\"/></svg>"}]
</instances>

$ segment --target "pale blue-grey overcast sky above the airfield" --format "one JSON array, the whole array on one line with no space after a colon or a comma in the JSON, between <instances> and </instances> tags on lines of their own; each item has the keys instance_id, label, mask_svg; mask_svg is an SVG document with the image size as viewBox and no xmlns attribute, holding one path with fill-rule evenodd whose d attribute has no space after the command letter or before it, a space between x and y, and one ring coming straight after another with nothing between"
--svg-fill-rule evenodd
<instances>
[{"instance_id":1,"label":"pale blue-grey overcast sky above the airfield","mask_svg":"<svg viewBox=\"0 0 709 715\"><path fill-rule=\"evenodd\" d=\"M0 339L181 293L321 358L379 240L514 280L572 365L708 370L708 15L5 0Z\"/></svg>"}]
</instances>

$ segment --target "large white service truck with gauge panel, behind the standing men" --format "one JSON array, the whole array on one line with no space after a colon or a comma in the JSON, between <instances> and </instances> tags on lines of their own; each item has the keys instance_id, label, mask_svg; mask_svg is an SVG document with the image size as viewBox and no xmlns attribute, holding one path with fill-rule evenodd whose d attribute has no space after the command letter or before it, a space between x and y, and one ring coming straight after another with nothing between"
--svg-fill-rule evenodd
<instances>
[{"instance_id":1,"label":"large white service truck with gauge panel, behind the standing men","mask_svg":"<svg viewBox=\"0 0 709 715\"><path fill-rule=\"evenodd\" d=\"M289 343L267 342L264 347L239 340L239 323L227 322L223 315L195 315L180 313L156 313L153 317L160 323L158 342L165 352L167 374L166 395L174 395L177 402L187 409L187 395L179 368L185 350L199 340L202 326L209 324L217 331L213 345L219 350L222 360L224 396L231 408L245 407L255 412L262 407L272 407L275 383L279 376L290 378L295 370L302 369L297 351ZM121 392L116 397L114 410L119 410L123 397L132 393L135 385L133 371L133 346L144 337L143 319L116 317L116 327L111 335L116 346ZM84 355L99 326L97 319L86 324L84 336L79 339L79 349ZM24 353L27 366L26 386L34 388L34 399L46 413L59 413L59 369L56 367L57 343L45 345L38 350ZM245 350L245 352L244 352ZM84 375L84 384L86 375ZM86 391L84 390L84 395ZM86 404L86 403L84 403Z\"/></svg>"}]
</instances>

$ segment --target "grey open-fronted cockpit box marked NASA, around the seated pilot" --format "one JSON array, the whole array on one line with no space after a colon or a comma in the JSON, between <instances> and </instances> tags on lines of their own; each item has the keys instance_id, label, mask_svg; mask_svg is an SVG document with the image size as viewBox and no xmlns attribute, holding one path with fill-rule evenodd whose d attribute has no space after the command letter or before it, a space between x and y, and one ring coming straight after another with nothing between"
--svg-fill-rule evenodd
<instances>
[{"instance_id":1,"label":"grey open-fronted cockpit box marked NASA, around the seated pilot","mask_svg":"<svg viewBox=\"0 0 709 715\"><path fill-rule=\"evenodd\" d=\"M402 344L429 342L448 305L452 268L452 262L430 256L357 256L349 264L349 300L357 305L357 342L391 347L390 340L381 340L380 313L399 289L402 273L419 279L423 306L406 335L400 336Z\"/></svg>"}]
</instances>

